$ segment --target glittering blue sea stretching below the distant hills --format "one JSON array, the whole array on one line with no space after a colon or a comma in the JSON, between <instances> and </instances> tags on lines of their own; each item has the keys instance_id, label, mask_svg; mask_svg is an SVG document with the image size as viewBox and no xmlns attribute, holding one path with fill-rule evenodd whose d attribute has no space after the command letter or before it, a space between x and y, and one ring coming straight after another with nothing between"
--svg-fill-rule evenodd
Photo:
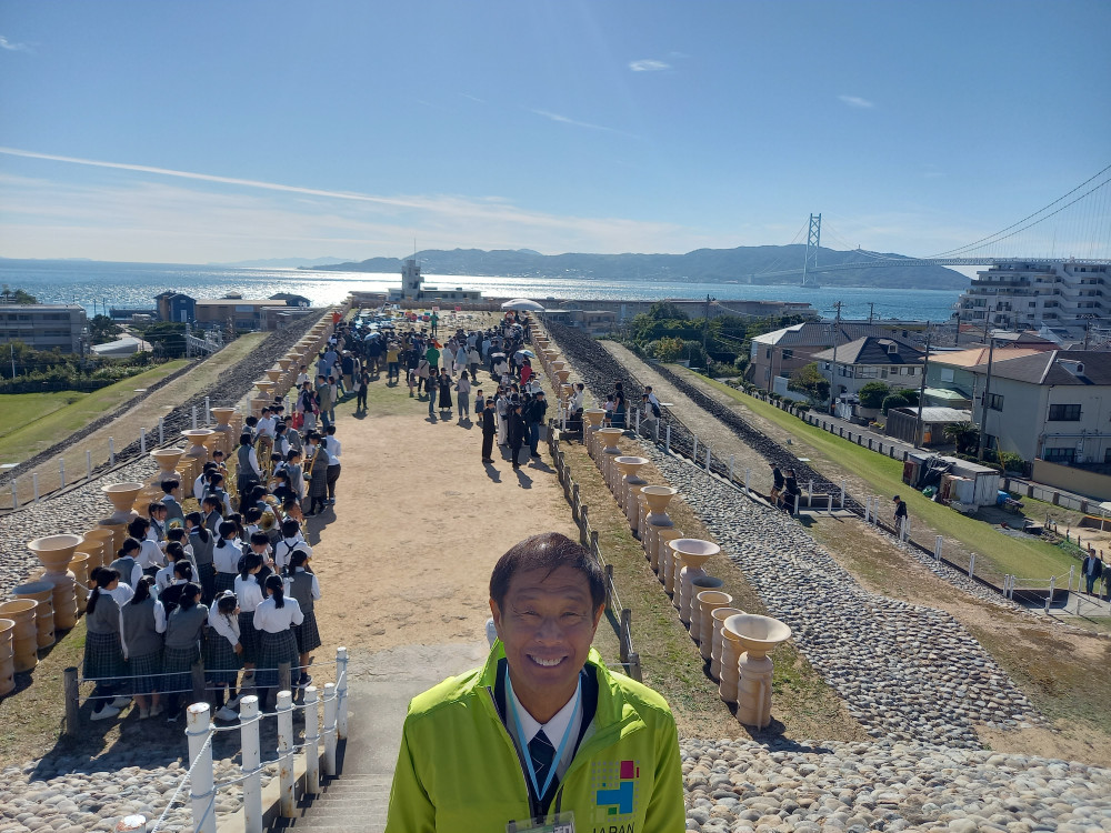
<instances>
[{"instance_id":1,"label":"glittering blue sea stretching below the distant hills","mask_svg":"<svg viewBox=\"0 0 1111 833\"><path fill-rule=\"evenodd\" d=\"M460 287L494 298L654 301L665 298L705 298L725 308L730 300L807 301L832 318L842 303L849 319L898 318L947 321L960 297L958 290L881 289L874 287L749 285L699 281L617 281L590 278L498 278L481 275L424 275L426 283L442 289ZM221 298L239 292L243 298L269 298L276 292L304 295L313 305L341 302L352 290L384 292L400 287L400 274L374 272L312 272L297 269L233 269L176 263L107 263L100 261L0 260L0 283L23 289L42 303L79 303L89 314L106 309L153 309L154 297L166 290L193 298ZM869 308L869 304L873 304Z\"/></svg>"}]
</instances>

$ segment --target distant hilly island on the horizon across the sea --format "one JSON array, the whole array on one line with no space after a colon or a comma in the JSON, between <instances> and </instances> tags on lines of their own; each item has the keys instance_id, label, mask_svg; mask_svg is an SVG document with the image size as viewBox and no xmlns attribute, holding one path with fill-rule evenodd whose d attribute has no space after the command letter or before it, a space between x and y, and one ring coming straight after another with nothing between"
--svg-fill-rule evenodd
<instances>
[{"instance_id":1,"label":"distant hilly island on the horizon across the sea","mask_svg":"<svg viewBox=\"0 0 1111 833\"><path fill-rule=\"evenodd\" d=\"M879 252L840 252L820 249L819 264L854 263ZM411 257L411 255L410 255ZM609 281L668 281L797 284L802 280L804 245L752 245L737 249L697 249L685 254L540 254L530 249L494 250L429 249L417 252L424 274L466 274L500 278L585 278ZM881 257L909 260L902 254ZM318 272L386 272L401 270L402 258L370 258L359 262L301 265ZM798 269L793 274L762 272ZM883 267L820 272L823 287L881 287L915 289L967 289L969 279L944 267Z\"/></svg>"}]
</instances>

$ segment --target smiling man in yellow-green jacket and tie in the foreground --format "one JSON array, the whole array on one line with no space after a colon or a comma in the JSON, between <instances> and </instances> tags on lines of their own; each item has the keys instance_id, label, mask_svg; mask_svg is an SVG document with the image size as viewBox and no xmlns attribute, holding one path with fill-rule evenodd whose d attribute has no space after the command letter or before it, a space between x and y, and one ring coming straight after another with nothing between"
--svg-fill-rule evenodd
<instances>
[{"instance_id":1,"label":"smiling man in yellow-green jacket and tie in the foreground","mask_svg":"<svg viewBox=\"0 0 1111 833\"><path fill-rule=\"evenodd\" d=\"M482 669L413 699L387 833L678 833L675 722L590 646L605 608L590 552L526 539L490 576L498 641Z\"/></svg>"}]
</instances>

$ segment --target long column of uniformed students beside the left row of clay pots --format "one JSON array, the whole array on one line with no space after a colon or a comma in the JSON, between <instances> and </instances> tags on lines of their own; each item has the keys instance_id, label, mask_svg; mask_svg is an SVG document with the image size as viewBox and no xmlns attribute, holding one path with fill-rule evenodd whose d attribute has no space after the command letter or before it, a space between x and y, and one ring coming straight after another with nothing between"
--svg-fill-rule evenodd
<instances>
[{"instance_id":1,"label":"long column of uniformed students beside the left row of clay pots","mask_svg":"<svg viewBox=\"0 0 1111 833\"><path fill-rule=\"evenodd\" d=\"M92 571L83 668L96 681L92 720L131 704L140 720L177 720L202 658L219 721L238 720L252 691L267 707L283 663L293 686L312 681L321 592L304 524L337 503L336 404L361 393L366 409L368 361L362 335L340 324L316 383L299 369L291 414L274 401L248 416L231 469L217 451L194 482L163 481L116 560Z\"/></svg>"}]
</instances>

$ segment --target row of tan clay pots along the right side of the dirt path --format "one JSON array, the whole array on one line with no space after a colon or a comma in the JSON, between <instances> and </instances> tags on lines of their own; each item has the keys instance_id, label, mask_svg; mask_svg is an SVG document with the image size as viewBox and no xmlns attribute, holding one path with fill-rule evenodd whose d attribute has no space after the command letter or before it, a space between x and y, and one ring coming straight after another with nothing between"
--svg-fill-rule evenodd
<instances>
[{"instance_id":1,"label":"row of tan clay pots along the right side of the dirt path","mask_svg":"<svg viewBox=\"0 0 1111 833\"><path fill-rule=\"evenodd\" d=\"M550 350L548 337L541 334L534 340ZM702 659L709 662L709 673L719 682L719 695L737 704L737 717L744 725L768 726L774 671L768 654L791 638L791 629L777 619L731 606L733 598L722 590L722 580L709 575L704 568L720 548L712 541L684 538L675 529L668 504L678 490L651 485L639 475L649 460L622 454L618 441L624 431L602 428L604 414L601 409L583 411L583 443L591 459L640 539L680 621L689 629Z\"/></svg>"}]
</instances>

